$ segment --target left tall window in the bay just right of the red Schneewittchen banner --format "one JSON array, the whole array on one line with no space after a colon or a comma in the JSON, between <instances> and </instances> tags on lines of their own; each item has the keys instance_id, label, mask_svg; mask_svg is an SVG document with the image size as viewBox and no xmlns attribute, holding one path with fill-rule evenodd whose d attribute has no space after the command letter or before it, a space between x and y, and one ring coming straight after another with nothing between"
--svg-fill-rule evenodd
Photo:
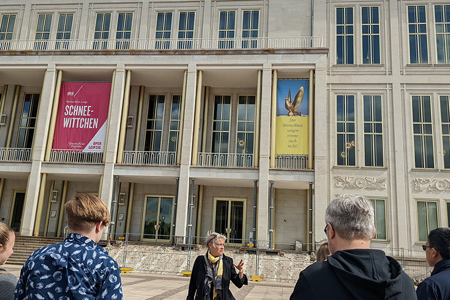
<instances>
[{"instance_id":1,"label":"left tall window in the bay just right of the red Schneewittchen banner","mask_svg":"<svg viewBox=\"0 0 450 300\"><path fill-rule=\"evenodd\" d=\"M150 95L144 151L161 151L164 120L164 95Z\"/></svg>"}]
</instances>

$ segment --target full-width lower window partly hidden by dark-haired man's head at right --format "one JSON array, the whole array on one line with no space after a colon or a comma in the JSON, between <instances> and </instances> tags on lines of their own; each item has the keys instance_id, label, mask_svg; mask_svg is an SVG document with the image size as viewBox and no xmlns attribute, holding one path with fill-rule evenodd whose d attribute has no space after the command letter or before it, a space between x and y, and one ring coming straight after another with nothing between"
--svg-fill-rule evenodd
<instances>
[{"instance_id":1,"label":"full-width lower window partly hidden by dark-haired man's head at right","mask_svg":"<svg viewBox=\"0 0 450 300\"><path fill-rule=\"evenodd\" d=\"M419 242L426 242L428 233L437 228L437 202L417 201Z\"/></svg>"}]
</instances>

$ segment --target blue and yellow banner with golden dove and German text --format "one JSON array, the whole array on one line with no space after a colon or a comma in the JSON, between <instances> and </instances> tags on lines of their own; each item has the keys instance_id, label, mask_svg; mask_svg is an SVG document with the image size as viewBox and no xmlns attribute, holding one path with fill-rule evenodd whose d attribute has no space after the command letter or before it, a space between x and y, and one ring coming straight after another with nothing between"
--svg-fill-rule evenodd
<instances>
[{"instance_id":1,"label":"blue and yellow banner with golden dove and German text","mask_svg":"<svg viewBox=\"0 0 450 300\"><path fill-rule=\"evenodd\" d=\"M279 79L275 154L308 155L309 80Z\"/></svg>"}]
</instances>

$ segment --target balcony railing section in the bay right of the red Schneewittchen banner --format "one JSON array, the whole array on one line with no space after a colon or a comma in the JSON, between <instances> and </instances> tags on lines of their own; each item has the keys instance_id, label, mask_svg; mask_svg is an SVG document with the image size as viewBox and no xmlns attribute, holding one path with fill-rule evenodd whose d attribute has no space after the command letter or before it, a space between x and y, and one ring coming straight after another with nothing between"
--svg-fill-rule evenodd
<instances>
[{"instance_id":1,"label":"balcony railing section in the bay right of the red Schneewittchen banner","mask_svg":"<svg viewBox=\"0 0 450 300\"><path fill-rule=\"evenodd\" d=\"M175 165L177 153L169 151L124 151L122 163L131 165Z\"/></svg>"}]
</instances>

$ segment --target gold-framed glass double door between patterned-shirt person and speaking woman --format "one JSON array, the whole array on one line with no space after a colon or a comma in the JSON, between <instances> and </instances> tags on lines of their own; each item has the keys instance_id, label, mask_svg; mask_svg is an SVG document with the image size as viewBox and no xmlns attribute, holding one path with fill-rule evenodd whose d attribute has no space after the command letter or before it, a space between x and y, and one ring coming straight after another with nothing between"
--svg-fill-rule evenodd
<instances>
[{"instance_id":1,"label":"gold-framed glass double door between patterned-shirt person and speaking woman","mask_svg":"<svg viewBox=\"0 0 450 300\"><path fill-rule=\"evenodd\" d=\"M172 235L173 199L173 197L146 197L143 239L159 242L170 240Z\"/></svg>"}]
</instances>

